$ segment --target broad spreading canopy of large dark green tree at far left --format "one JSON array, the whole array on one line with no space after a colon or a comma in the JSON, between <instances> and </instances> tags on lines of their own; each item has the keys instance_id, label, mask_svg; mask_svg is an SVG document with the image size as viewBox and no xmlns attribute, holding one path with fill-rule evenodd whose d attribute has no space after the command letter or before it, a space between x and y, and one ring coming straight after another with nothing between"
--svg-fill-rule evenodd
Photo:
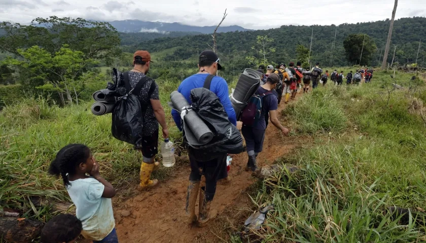
<instances>
[{"instance_id":1,"label":"broad spreading canopy of large dark green tree at far left","mask_svg":"<svg viewBox=\"0 0 426 243\"><path fill-rule=\"evenodd\" d=\"M102 59L120 52L117 30L107 22L82 18L36 18L30 25L2 22L0 50L20 55L18 49L39 46L54 55L64 44L83 53L84 58Z\"/></svg>"}]
</instances>

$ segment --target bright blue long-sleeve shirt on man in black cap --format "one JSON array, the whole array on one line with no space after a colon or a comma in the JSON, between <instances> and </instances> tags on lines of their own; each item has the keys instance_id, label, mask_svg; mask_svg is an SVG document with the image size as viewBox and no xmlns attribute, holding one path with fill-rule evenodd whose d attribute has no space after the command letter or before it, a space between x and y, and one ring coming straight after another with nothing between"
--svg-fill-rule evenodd
<instances>
[{"instance_id":1,"label":"bright blue long-sleeve shirt on man in black cap","mask_svg":"<svg viewBox=\"0 0 426 243\"><path fill-rule=\"evenodd\" d=\"M191 104L191 90L196 88L202 88L204 86L204 81L207 76L208 73L197 73L192 76L189 76L185 80L183 80L179 88L177 88L177 91L187 99L189 104ZM228 84L226 83L225 79L219 76L213 77L213 79L211 79L210 91L215 93L219 97L219 100L221 101L226 113L228 114L229 121L231 121L231 123L236 126L237 117L235 115L235 110L232 107L231 100L229 99ZM176 110L171 110L171 115L177 128L182 131L181 114Z\"/></svg>"}]
</instances>

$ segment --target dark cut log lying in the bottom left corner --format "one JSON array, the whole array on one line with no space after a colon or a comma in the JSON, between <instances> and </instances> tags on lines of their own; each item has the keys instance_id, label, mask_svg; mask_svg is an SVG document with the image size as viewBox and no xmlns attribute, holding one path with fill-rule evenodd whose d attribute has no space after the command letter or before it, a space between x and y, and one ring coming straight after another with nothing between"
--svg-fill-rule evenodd
<instances>
[{"instance_id":1,"label":"dark cut log lying in the bottom left corner","mask_svg":"<svg viewBox=\"0 0 426 243\"><path fill-rule=\"evenodd\" d=\"M4 242L29 243L40 235L43 222L12 217L0 217L0 237Z\"/></svg>"}]
</instances>

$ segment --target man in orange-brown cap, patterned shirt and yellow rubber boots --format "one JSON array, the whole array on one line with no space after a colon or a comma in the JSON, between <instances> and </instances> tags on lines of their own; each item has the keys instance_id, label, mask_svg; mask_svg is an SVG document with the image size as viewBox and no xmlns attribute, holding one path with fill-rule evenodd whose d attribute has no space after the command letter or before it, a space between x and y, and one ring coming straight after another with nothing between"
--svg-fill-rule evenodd
<instances>
[{"instance_id":1,"label":"man in orange-brown cap, patterned shirt and yellow rubber boots","mask_svg":"<svg viewBox=\"0 0 426 243\"><path fill-rule=\"evenodd\" d=\"M147 74L151 67L151 55L147 51L136 51L133 54L133 69L124 72L124 79L128 80L130 89L134 89L139 82L146 83L140 87L138 96L140 104L146 107L144 112L144 134L141 147L136 149L142 152L142 162L139 173L139 189L146 189L158 184L158 180L151 180L151 173L159 163L154 161L158 153L158 124L162 127L163 138L168 138L169 131L166 123L166 115L160 103L158 85ZM126 81L125 81L126 82Z\"/></svg>"}]
</instances>

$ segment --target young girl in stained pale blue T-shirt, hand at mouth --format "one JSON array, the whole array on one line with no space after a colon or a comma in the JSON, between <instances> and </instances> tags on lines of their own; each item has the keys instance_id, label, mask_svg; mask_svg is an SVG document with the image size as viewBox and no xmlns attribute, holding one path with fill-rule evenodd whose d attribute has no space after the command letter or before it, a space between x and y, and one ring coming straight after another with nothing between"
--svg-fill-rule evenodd
<instances>
[{"instance_id":1,"label":"young girl in stained pale blue T-shirt, hand at mouth","mask_svg":"<svg viewBox=\"0 0 426 243\"><path fill-rule=\"evenodd\" d=\"M118 243L111 198L114 187L99 175L99 165L83 144L69 144L56 154L49 174L61 176L82 221L82 235L93 243ZM87 176L89 174L90 176Z\"/></svg>"}]
</instances>

